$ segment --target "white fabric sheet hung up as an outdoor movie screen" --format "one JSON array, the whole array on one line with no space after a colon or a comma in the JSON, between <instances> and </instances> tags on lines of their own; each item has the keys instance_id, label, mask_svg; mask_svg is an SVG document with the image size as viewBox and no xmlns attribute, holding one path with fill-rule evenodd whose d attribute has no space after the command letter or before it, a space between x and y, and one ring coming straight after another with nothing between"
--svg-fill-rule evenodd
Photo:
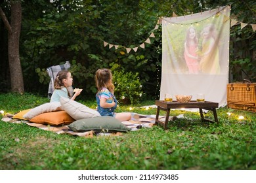
<instances>
[{"instance_id":1,"label":"white fabric sheet hung up as an outdoor movie screen","mask_svg":"<svg viewBox=\"0 0 256 183\"><path fill-rule=\"evenodd\" d=\"M165 93L171 93L174 99L177 94L193 95L192 100L197 93L205 93L205 101L226 105L229 18L230 7L220 7L161 19L161 100Z\"/></svg>"}]
</instances>

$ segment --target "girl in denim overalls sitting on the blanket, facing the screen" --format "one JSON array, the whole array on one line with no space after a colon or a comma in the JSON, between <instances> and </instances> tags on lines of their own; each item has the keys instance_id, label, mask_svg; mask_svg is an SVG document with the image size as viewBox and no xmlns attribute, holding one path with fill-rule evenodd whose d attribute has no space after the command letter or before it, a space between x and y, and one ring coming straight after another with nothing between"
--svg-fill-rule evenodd
<instances>
[{"instance_id":1,"label":"girl in denim overalls sitting on the blanket, facing the screen","mask_svg":"<svg viewBox=\"0 0 256 183\"><path fill-rule=\"evenodd\" d=\"M97 111L101 116L114 116L119 121L131 119L130 112L116 113L117 101L114 97L114 84L112 84L112 73L110 69L98 69L95 75Z\"/></svg>"}]
</instances>

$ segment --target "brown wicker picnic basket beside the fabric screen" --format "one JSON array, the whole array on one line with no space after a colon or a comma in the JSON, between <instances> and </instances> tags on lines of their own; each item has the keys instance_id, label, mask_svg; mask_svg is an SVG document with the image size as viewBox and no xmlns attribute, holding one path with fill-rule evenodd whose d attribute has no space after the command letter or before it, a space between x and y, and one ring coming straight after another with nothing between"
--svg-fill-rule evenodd
<instances>
[{"instance_id":1,"label":"brown wicker picnic basket beside the fabric screen","mask_svg":"<svg viewBox=\"0 0 256 183\"><path fill-rule=\"evenodd\" d=\"M256 83L249 80L229 83L226 86L229 108L256 112Z\"/></svg>"}]
</instances>

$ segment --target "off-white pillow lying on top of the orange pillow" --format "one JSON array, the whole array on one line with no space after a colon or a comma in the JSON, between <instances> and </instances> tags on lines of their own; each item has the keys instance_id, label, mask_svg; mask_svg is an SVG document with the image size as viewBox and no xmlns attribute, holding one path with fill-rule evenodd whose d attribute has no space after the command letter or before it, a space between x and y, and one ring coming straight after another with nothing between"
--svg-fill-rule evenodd
<instances>
[{"instance_id":1,"label":"off-white pillow lying on top of the orange pillow","mask_svg":"<svg viewBox=\"0 0 256 183\"><path fill-rule=\"evenodd\" d=\"M58 110L62 110L60 102L45 103L35 108L32 108L29 112L24 114L23 118L30 120L33 117L38 116L39 114L45 112L54 112Z\"/></svg>"}]
</instances>

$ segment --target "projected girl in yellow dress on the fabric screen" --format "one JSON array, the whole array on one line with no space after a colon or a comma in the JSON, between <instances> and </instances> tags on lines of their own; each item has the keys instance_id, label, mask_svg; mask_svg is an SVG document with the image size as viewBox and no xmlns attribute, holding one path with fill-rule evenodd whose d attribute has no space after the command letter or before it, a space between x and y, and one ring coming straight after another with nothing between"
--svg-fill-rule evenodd
<instances>
[{"instance_id":1,"label":"projected girl in yellow dress on the fabric screen","mask_svg":"<svg viewBox=\"0 0 256 183\"><path fill-rule=\"evenodd\" d=\"M203 27L202 31L202 51L198 51L200 56L200 70L206 74L220 74L219 48L216 41L216 28L213 24Z\"/></svg>"}]
</instances>

